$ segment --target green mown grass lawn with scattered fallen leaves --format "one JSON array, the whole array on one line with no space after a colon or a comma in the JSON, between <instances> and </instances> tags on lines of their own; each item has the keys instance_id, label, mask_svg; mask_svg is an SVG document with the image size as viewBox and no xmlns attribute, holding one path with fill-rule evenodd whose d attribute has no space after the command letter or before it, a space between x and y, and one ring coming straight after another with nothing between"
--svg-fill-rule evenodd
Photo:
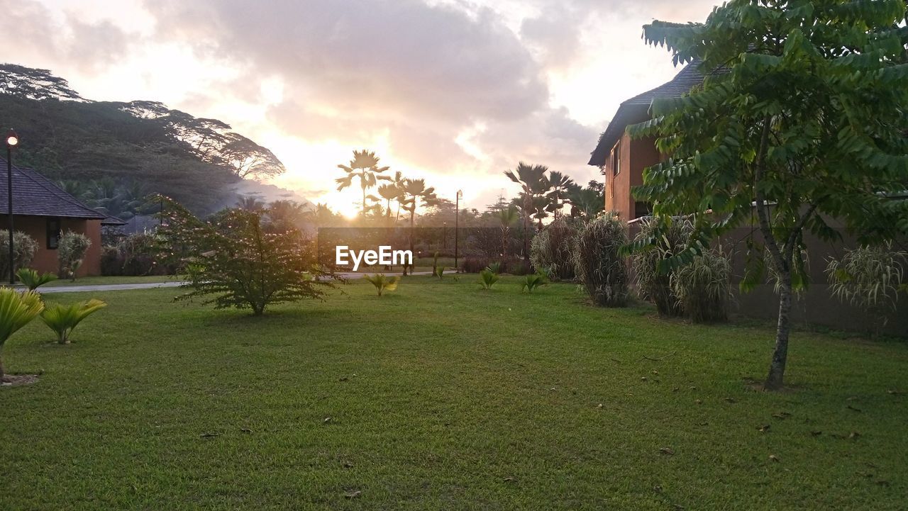
<instances>
[{"instance_id":1,"label":"green mown grass lawn with scattered fallen leaves","mask_svg":"<svg viewBox=\"0 0 908 511\"><path fill-rule=\"evenodd\" d=\"M770 329L474 280L260 319L94 293L70 346L36 321L5 347L42 376L0 388L0 509L905 508L908 345L797 332L795 389L757 392Z\"/></svg>"}]
</instances>

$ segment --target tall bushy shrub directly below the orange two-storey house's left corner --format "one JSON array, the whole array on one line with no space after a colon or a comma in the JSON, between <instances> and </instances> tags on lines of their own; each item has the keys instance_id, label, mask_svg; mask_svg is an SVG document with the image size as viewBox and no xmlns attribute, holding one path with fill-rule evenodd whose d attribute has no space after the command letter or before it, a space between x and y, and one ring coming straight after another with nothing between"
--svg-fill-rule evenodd
<instances>
[{"instance_id":1,"label":"tall bushy shrub directly below the orange two-storey house's left corner","mask_svg":"<svg viewBox=\"0 0 908 511\"><path fill-rule=\"evenodd\" d=\"M627 305L627 224L615 215L588 221L577 236L574 264L577 278L593 303L603 307Z\"/></svg>"}]
</instances>

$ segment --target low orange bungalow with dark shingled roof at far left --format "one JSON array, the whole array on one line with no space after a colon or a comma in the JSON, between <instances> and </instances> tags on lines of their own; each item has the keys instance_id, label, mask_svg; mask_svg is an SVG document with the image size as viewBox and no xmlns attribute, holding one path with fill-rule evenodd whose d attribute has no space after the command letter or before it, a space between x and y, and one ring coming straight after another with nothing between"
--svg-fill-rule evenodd
<instances>
[{"instance_id":1,"label":"low orange bungalow with dark shingled roof at far left","mask_svg":"<svg viewBox=\"0 0 908 511\"><path fill-rule=\"evenodd\" d=\"M0 229L7 225L6 160L0 158ZM101 226L120 225L123 221L94 211L54 182L33 169L13 166L13 222L38 242L35 259L30 265L38 271L59 271L57 243L65 231L79 232L92 241L85 260L77 271L79 277L101 274Z\"/></svg>"}]
</instances>

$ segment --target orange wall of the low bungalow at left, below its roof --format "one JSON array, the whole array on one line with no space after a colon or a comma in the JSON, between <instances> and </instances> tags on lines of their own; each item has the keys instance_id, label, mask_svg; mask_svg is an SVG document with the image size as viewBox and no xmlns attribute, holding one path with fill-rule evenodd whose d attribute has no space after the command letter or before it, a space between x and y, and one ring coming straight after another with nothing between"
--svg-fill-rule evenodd
<instances>
[{"instance_id":1,"label":"orange wall of the low bungalow at left, below its roof","mask_svg":"<svg viewBox=\"0 0 908 511\"><path fill-rule=\"evenodd\" d=\"M38 250L35 252L35 259L32 260L31 267L38 271L51 271L57 273L60 271L60 262L57 259L57 251L47 248L47 219L35 216L16 216L14 218L15 231L23 231L38 242ZM5 229L6 215L0 216L0 228ZM92 245L88 247L85 253L85 260L76 275L85 277L87 275L101 274L101 221L100 220L78 220L78 219L60 219L61 229L65 231L74 231L88 236Z\"/></svg>"}]
</instances>

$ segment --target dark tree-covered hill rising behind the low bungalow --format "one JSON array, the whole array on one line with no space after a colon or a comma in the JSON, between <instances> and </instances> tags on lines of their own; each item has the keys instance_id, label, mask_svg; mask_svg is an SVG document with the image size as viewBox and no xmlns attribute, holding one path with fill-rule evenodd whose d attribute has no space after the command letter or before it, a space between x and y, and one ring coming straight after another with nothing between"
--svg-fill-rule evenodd
<instances>
[{"instance_id":1,"label":"dark tree-covered hill rising behind the low bungalow","mask_svg":"<svg viewBox=\"0 0 908 511\"><path fill-rule=\"evenodd\" d=\"M152 192L209 213L235 201L242 180L284 172L270 150L227 123L153 101L87 100L64 78L16 64L0 64L0 126L22 141L17 164L127 218Z\"/></svg>"}]
</instances>

